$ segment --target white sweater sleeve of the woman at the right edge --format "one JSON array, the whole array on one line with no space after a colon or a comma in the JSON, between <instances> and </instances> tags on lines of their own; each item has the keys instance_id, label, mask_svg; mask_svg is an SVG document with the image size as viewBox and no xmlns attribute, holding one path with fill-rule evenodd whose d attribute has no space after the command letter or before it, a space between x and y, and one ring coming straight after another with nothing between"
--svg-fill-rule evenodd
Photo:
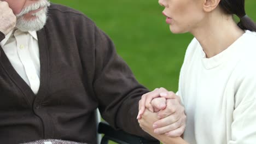
<instances>
[{"instance_id":1,"label":"white sweater sleeve of the woman at the right edge","mask_svg":"<svg viewBox=\"0 0 256 144\"><path fill-rule=\"evenodd\" d=\"M256 141L256 75L246 74L235 95L231 140L229 144L255 143Z\"/></svg>"}]
</instances>

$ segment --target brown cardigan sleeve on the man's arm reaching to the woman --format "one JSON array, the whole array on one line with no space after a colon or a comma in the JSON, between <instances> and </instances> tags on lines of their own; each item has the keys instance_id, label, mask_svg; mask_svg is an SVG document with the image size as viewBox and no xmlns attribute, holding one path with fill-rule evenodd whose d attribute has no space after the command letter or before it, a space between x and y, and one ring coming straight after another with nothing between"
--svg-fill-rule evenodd
<instances>
[{"instance_id":1,"label":"brown cardigan sleeve on the man's arm reaching to the woman","mask_svg":"<svg viewBox=\"0 0 256 144\"><path fill-rule=\"evenodd\" d=\"M137 122L138 101L149 92L140 85L115 51L109 37L95 26L94 92L102 117L114 128L152 139Z\"/></svg>"}]
</instances>

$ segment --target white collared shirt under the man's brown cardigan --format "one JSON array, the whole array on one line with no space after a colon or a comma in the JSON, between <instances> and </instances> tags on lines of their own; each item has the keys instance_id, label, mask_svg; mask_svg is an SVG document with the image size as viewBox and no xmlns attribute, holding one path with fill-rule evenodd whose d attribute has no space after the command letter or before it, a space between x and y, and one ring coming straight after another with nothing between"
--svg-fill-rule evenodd
<instances>
[{"instance_id":1,"label":"white collared shirt under the man's brown cardigan","mask_svg":"<svg viewBox=\"0 0 256 144\"><path fill-rule=\"evenodd\" d=\"M40 86L40 59L36 31L12 30L0 45L17 73L37 94Z\"/></svg>"}]
</instances>

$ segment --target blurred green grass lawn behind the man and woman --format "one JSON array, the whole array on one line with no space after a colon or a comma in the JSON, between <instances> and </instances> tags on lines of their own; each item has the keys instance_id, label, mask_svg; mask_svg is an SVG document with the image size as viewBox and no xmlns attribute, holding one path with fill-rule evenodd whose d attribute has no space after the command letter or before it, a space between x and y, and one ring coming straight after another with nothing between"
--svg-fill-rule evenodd
<instances>
[{"instance_id":1,"label":"blurred green grass lawn behind the man and woman","mask_svg":"<svg viewBox=\"0 0 256 144\"><path fill-rule=\"evenodd\" d=\"M158 1L53 0L82 11L115 43L137 80L149 89L177 91L179 70L190 34L172 34ZM247 15L254 21L256 1L247 0Z\"/></svg>"}]
</instances>

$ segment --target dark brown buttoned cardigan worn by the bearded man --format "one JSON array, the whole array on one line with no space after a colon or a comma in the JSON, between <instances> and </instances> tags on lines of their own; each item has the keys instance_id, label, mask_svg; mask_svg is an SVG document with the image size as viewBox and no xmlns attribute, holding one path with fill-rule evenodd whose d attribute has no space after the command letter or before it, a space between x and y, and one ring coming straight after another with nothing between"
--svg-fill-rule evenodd
<instances>
[{"instance_id":1,"label":"dark brown buttoned cardigan worn by the bearded man","mask_svg":"<svg viewBox=\"0 0 256 144\"><path fill-rule=\"evenodd\" d=\"M97 107L113 127L149 137L136 120L138 100L148 90L136 81L108 36L73 9L52 4L48 15L45 27L37 32L37 95L0 49L0 143L96 143Z\"/></svg>"}]
</instances>

